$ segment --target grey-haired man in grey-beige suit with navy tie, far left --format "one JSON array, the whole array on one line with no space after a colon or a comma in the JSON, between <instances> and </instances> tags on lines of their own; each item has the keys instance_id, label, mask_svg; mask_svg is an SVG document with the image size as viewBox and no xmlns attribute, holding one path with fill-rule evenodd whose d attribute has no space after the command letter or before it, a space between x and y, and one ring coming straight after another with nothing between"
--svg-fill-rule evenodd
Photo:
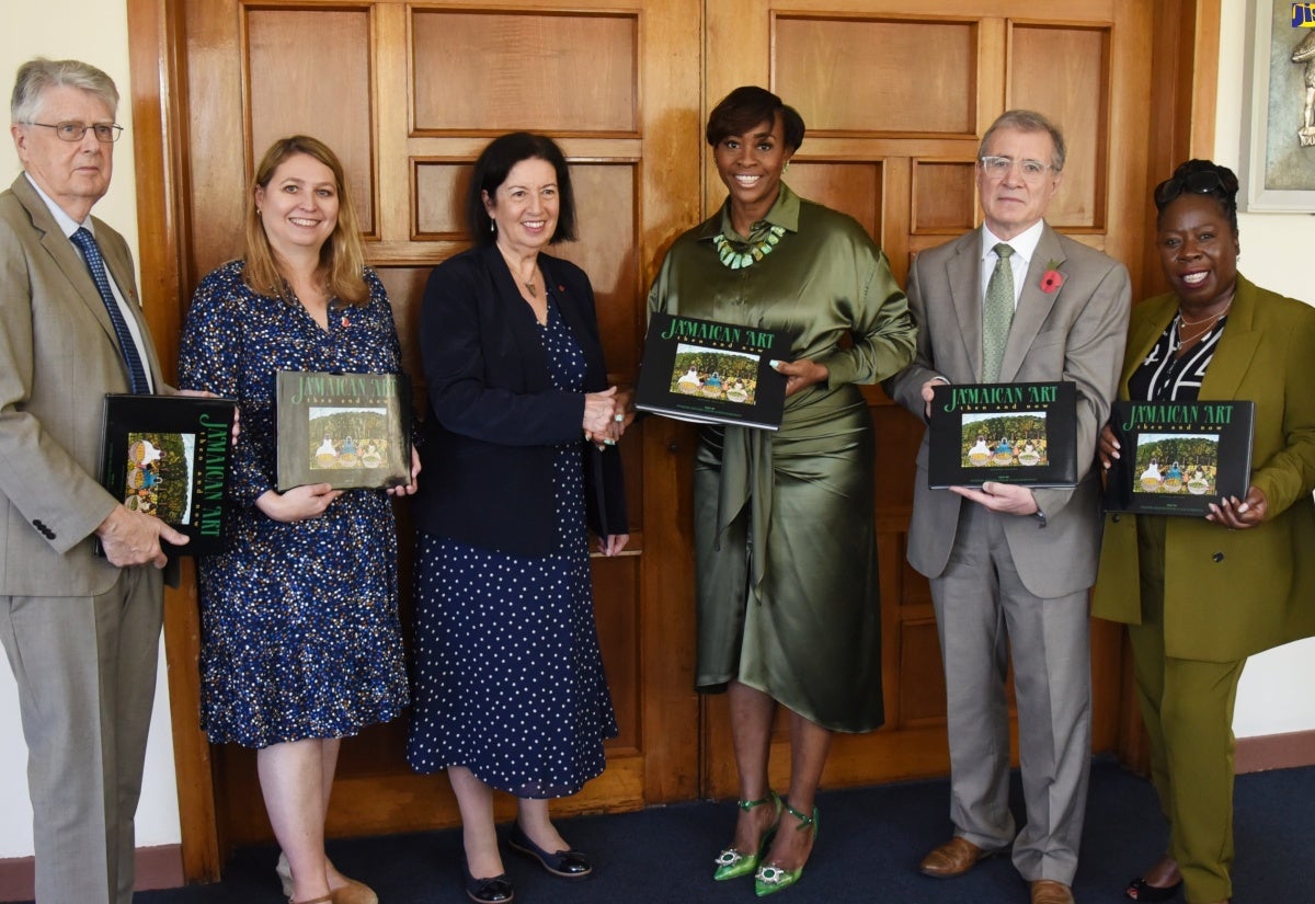
<instances>
[{"instance_id":1,"label":"grey-haired man in grey-beige suit with navy tie, far left","mask_svg":"<svg viewBox=\"0 0 1315 904\"><path fill-rule=\"evenodd\" d=\"M166 556L187 537L96 480L105 393L166 392L122 237L91 215L118 92L34 59L0 193L0 641L28 742L39 904L128 904ZM93 552L95 537L104 557Z\"/></svg>"}]
</instances>

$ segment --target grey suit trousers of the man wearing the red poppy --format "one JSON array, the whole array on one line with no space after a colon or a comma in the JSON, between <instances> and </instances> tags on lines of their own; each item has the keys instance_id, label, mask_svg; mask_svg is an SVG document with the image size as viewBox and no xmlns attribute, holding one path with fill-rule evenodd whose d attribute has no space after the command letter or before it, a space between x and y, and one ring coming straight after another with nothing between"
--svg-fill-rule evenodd
<instances>
[{"instance_id":1,"label":"grey suit trousers of the man wearing the red poppy","mask_svg":"<svg viewBox=\"0 0 1315 904\"><path fill-rule=\"evenodd\" d=\"M1014 845L1028 882L1073 884L1091 763L1088 591L1043 599L1014 569L999 515L965 502L944 573L931 581L945 666L955 834L986 850ZM1044 543L1039 530L1038 543ZM1014 664L1027 823L1009 809Z\"/></svg>"}]
</instances>

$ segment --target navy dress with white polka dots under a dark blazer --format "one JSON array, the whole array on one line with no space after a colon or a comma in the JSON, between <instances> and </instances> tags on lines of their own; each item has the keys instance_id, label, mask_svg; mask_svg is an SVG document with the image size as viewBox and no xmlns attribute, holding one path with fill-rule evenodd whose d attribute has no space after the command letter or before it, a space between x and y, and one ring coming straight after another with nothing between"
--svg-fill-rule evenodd
<instances>
[{"instance_id":1,"label":"navy dress with white polka dots under a dark blazer","mask_svg":"<svg viewBox=\"0 0 1315 904\"><path fill-rule=\"evenodd\" d=\"M585 359L548 305L539 327L554 388L583 392ZM406 758L466 766L521 798L575 794L615 737L593 622L581 445L556 447L556 547L512 556L419 533L416 686Z\"/></svg>"}]
</instances>

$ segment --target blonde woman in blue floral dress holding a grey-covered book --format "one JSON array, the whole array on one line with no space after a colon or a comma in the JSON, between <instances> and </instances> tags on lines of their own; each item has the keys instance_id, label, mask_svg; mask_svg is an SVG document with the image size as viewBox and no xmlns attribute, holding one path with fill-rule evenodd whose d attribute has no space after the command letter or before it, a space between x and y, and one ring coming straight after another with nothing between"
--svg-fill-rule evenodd
<instances>
[{"instance_id":1,"label":"blonde woman in blue floral dress holding a grey-covered book","mask_svg":"<svg viewBox=\"0 0 1315 904\"><path fill-rule=\"evenodd\" d=\"M275 490L277 371L401 372L342 164L305 135L264 155L246 255L201 281L183 334L180 385L242 418L226 552L200 560L201 727L256 749L288 900L376 904L325 857L323 823L341 740L408 703L393 512L384 490Z\"/></svg>"}]
</instances>

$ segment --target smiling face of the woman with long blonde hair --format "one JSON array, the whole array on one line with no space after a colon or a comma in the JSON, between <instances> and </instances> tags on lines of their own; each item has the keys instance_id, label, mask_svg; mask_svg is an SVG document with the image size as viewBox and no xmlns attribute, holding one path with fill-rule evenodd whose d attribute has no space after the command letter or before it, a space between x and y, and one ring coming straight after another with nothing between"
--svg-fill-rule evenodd
<instances>
[{"instance_id":1,"label":"smiling face of the woman with long blonde hair","mask_svg":"<svg viewBox=\"0 0 1315 904\"><path fill-rule=\"evenodd\" d=\"M293 154L256 185L255 205L270 247L284 258L316 254L338 225L338 180L309 154Z\"/></svg>"}]
</instances>

